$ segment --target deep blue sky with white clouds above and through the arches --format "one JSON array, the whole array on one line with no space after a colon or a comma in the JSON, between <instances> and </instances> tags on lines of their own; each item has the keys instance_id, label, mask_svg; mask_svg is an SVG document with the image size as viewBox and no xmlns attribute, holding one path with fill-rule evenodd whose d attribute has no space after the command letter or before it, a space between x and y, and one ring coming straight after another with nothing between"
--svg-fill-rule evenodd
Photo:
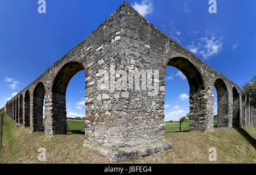
<instances>
[{"instance_id":1,"label":"deep blue sky with white clouds above and through the arches","mask_svg":"<svg viewBox=\"0 0 256 175\"><path fill-rule=\"evenodd\" d=\"M0 106L93 32L123 1L0 1ZM255 75L256 1L127 1L148 21L238 85ZM189 112L188 81L166 70L166 120ZM84 116L84 71L67 89L68 116ZM215 105L216 110L216 105ZM216 112L216 111L215 111Z\"/></svg>"}]
</instances>

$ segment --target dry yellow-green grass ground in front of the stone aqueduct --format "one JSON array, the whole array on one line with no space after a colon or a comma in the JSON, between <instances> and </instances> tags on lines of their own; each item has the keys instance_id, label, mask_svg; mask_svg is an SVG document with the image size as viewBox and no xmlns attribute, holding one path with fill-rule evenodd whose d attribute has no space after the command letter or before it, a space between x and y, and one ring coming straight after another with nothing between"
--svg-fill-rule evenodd
<instances>
[{"instance_id":1,"label":"dry yellow-green grass ground in front of the stone aqueduct","mask_svg":"<svg viewBox=\"0 0 256 175\"><path fill-rule=\"evenodd\" d=\"M83 124L68 121L70 128ZM44 132L30 133L29 128L17 126L7 116L3 126L3 149L0 163L110 163L97 151L82 147L84 135L55 135L49 139ZM251 127L240 131L234 128L214 128L214 132L181 132L166 134L172 143L158 155L142 157L127 163L256 163L255 132ZM253 135L253 136L251 136ZM46 148L46 162L38 160L38 149ZM209 148L217 149L217 161L208 160Z\"/></svg>"}]
</instances>

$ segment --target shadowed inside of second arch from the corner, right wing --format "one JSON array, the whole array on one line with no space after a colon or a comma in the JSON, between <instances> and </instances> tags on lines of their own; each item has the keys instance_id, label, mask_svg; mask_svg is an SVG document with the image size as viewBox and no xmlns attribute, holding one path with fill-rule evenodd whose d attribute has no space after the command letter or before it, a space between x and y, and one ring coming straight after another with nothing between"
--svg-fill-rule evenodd
<instances>
[{"instance_id":1,"label":"shadowed inside of second arch from the corner, right wing","mask_svg":"<svg viewBox=\"0 0 256 175\"><path fill-rule=\"evenodd\" d=\"M217 90L217 111L218 120L217 127L232 127L229 119L229 93L225 82L221 78L217 78L214 82L214 87Z\"/></svg>"}]
</instances>

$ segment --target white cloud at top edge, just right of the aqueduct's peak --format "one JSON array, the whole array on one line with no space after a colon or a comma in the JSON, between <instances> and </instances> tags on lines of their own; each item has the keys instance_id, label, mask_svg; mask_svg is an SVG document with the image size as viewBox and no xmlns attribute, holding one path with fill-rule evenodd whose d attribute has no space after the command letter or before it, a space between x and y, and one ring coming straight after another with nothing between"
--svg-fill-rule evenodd
<instances>
[{"instance_id":1,"label":"white cloud at top edge, just right of the aqueduct's peak","mask_svg":"<svg viewBox=\"0 0 256 175\"><path fill-rule=\"evenodd\" d=\"M141 4L135 2L133 8L144 17L154 11L154 6L151 0L143 0Z\"/></svg>"}]
</instances>

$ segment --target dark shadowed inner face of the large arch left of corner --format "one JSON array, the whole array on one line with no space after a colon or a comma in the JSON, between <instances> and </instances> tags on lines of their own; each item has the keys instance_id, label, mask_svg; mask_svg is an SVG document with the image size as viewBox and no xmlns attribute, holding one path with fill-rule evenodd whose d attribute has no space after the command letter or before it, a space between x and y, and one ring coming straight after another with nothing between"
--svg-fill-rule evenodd
<instances>
[{"instance_id":1,"label":"dark shadowed inner face of the large arch left of corner","mask_svg":"<svg viewBox=\"0 0 256 175\"><path fill-rule=\"evenodd\" d=\"M85 70L79 62L65 64L57 73L52 85L52 134L67 134L66 91L76 73Z\"/></svg>"}]
</instances>

